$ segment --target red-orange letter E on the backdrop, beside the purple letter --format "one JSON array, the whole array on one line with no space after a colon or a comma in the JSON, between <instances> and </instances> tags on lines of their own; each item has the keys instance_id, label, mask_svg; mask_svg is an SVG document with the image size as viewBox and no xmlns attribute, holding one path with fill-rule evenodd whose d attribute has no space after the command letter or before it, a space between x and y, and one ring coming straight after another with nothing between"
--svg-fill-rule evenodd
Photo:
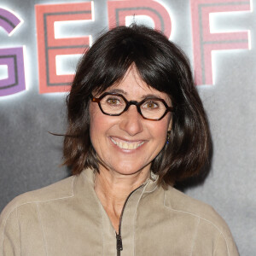
<instances>
[{"instance_id":1,"label":"red-orange letter E on the backdrop, beside the purple letter","mask_svg":"<svg viewBox=\"0 0 256 256\"><path fill-rule=\"evenodd\" d=\"M91 20L92 2L36 5L38 31L38 70L40 93L69 90L73 75L56 74L56 55L82 54L89 36L55 38L55 21Z\"/></svg>"}]
</instances>

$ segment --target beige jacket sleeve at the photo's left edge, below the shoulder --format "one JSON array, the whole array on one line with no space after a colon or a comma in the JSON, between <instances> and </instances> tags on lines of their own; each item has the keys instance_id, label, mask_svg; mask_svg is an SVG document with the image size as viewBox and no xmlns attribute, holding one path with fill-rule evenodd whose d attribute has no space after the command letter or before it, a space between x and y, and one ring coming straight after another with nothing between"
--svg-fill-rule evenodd
<instances>
[{"instance_id":1,"label":"beige jacket sleeve at the photo's left edge, below the shoulder","mask_svg":"<svg viewBox=\"0 0 256 256\"><path fill-rule=\"evenodd\" d=\"M17 208L6 207L0 215L0 256L20 255L20 228Z\"/></svg>"}]
</instances>

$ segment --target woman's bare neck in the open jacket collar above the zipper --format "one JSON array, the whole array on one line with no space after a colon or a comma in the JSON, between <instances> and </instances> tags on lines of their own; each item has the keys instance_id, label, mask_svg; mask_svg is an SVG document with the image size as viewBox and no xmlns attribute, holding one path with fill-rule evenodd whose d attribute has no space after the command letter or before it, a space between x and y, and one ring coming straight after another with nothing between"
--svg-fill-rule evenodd
<instances>
[{"instance_id":1,"label":"woman's bare neck in the open jacket collar above the zipper","mask_svg":"<svg viewBox=\"0 0 256 256\"><path fill-rule=\"evenodd\" d=\"M96 172L95 191L102 206L108 213L113 228L118 232L119 218L130 193L141 186L149 177L150 172L141 171L131 175L123 175L105 168Z\"/></svg>"}]
</instances>

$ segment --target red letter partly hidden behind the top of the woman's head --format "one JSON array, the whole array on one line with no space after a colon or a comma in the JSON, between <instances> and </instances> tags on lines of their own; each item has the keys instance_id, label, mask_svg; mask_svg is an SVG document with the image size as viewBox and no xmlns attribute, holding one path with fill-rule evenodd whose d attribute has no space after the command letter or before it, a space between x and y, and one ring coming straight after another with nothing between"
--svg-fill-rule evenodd
<instances>
[{"instance_id":1,"label":"red letter partly hidden behind the top of the woman's head","mask_svg":"<svg viewBox=\"0 0 256 256\"><path fill-rule=\"evenodd\" d=\"M154 20L156 29L170 38L172 31L171 17L163 5L155 1L108 1L108 25L125 26L125 17L133 15L146 15Z\"/></svg>"}]
</instances>

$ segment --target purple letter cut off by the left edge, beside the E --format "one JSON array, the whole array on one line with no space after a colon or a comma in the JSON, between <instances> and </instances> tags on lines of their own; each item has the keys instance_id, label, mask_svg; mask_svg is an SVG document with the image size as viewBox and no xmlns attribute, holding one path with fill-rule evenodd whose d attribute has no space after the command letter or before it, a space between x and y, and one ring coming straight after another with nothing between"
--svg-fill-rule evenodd
<instances>
[{"instance_id":1,"label":"purple letter cut off by the left edge, beside the E","mask_svg":"<svg viewBox=\"0 0 256 256\"><path fill-rule=\"evenodd\" d=\"M7 9L0 8L0 26L14 32L21 20ZM0 96L8 96L26 90L23 47L0 49L0 65L8 67L8 78L0 79Z\"/></svg>"}]
</instances>

